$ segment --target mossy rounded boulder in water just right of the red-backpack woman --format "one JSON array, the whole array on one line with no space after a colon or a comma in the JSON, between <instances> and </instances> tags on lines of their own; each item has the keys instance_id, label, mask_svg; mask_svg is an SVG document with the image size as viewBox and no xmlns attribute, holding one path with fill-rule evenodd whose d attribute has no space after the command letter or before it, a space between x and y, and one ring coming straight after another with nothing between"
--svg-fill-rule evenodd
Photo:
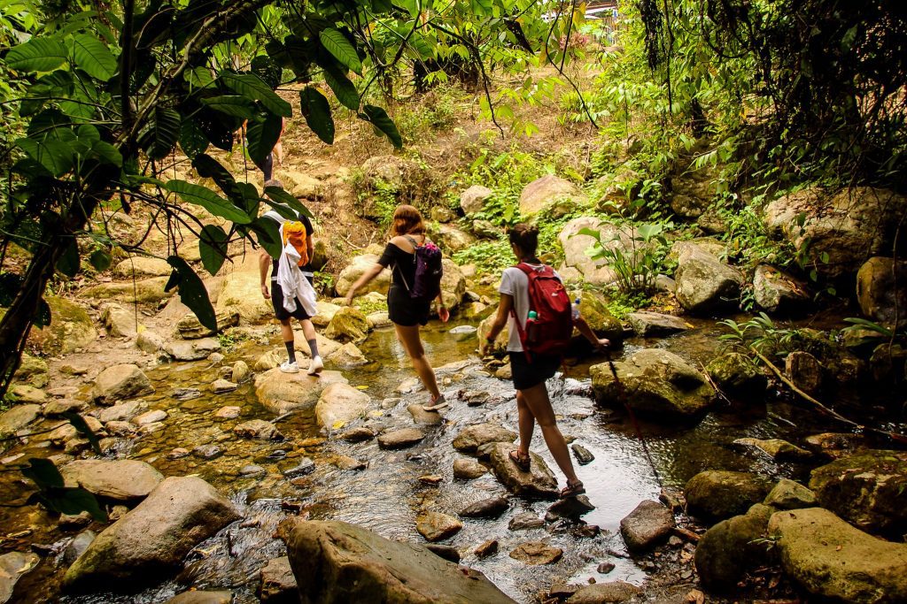
<instances>
[{"instance_id":1,"label":"mossy rounded boulder in water just right of the red-backpack woman","mask_svg":"<svg viewBox=\"0 0 907 604\"><path fill-rule=\"evenodd\" d=\"M697 369L673 352L639 350L628 360L590 368L592 390L603 405L619 407L625 402L634 411L663 421L694 419L715 401L715 391Z\"/></svg>"}]
</instances>

